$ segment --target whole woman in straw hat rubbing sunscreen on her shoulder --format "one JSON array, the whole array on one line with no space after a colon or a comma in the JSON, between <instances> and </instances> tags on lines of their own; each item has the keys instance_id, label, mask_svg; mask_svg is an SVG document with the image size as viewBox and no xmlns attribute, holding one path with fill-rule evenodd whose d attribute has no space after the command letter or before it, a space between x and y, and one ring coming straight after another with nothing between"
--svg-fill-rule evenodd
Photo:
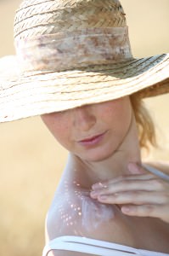
<instances>
[{"instance_id":1,"label":"whole woman in straw hat rubbing sunscreen on her shoulder","mask_svg":"<svg viewBox=\"0 0 169 256\"><path fill-rule=\"evenodd\" d=\"M40 114L70 152L43 255L169 255L169 166L140 155L155 142L142 99L169 92L169 55L132 57L117 0L24 1L14 32L0 119Z\"/></svg>"}]
</instances>

